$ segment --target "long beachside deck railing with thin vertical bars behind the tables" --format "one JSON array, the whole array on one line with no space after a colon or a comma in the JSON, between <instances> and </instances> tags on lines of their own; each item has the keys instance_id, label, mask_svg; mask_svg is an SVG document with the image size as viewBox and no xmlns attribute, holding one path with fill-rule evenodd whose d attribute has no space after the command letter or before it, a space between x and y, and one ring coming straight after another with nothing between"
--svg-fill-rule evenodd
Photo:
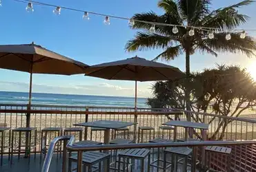
<instances>
[{"instance_id":1,"label":"long beachside deck railing with thin vertical bars behind the tables","mask_svg":"<svg viewBox=\"0 0 256 172\"><path fill-rule=\"evenodd\" d=\"M30 114L30 126L37 127L37 131L45 127L73 127L79 122L90 122L95 120L119 120L127 122L137 122L139 126L150 126L155 129L155 136L158 136L159 127L168 120L188 120L190 114L194 122L205 122L209 124L208 138L216 140L253 140L256 120L247 118L235 118L228 116L217 116L215 114L197 113L184 111L182 109L150 109L129 107L82 107L64 105L32 105L28 110L28 105L3 105L0 104L0 126L26 127L26 114ZM227 125L223 125L226 122ZM216 132L218 130L218 132ZM200 131L195 131L200 137ZM97 137L96 138L96 134ZM39 133L37 136L41 136ZM104 132L92 133L90 128L83 132L83 138L103 142ZM119 134L121 136L121 133ZM137 129L129 127L129 138L136 138ZM150 140L149 136L144 135ZM214 137L213 137L214 136ZM49 140L55 138L50 136ZM154 136L151 136L153 138ZM182 128L177 130L177 138L184 137ZM37 138L37 145L40 147L41 138ZM39 150L39 149L38 149Z\"/></svg>"}]
</instances>

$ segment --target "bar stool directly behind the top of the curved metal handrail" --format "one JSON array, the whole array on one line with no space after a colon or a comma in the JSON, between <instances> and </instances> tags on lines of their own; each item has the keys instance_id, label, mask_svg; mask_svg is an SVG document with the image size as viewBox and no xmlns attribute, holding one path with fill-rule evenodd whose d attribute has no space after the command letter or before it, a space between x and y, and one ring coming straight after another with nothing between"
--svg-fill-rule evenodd
<instances>
[{"instance_id":1,"label":"bar stool directly behind the top of the curved metal handrail","mask_svg":"<svg viewBox=\"0 0 256 172\"><path fill-rule=\"evenodd\" d=\"M50 134L50 136L49 136L50 140L52 139L51 138L52 133L55 135L55 137L61 136L62 135L62 127L48 127L48 128L44 128L41 130L41 154L45 153L45 155L46 155L47 147L50 144L47 140L48 133ZM43 134L44 134L44 136L43 136ZM57 149L55 149L55 151L57 151L57 155L59 154L60 150L61 150L61 143L57 143Z\"/></svg>"}]
</instances>

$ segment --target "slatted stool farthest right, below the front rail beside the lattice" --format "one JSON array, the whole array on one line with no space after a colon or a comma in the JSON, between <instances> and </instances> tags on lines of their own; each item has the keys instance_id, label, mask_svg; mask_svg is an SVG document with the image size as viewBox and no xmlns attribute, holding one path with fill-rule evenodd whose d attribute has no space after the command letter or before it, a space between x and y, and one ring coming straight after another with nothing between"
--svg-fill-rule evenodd
<instances>
[{"instance_id":1,"label":"slatted stool farthest right, below the front rail beside the lattice","mask_svg":"<svg viewBox=\"0 0 256 172\"><path fill-rule=\"evenodd\" d=\"M226 170L227 172L230 172L230 166L231 166L231 148L229 147L216 147L216 146L208 146L206 147L206 159L205 159L205 164L208 165L209 169L210 169L210 161L211 161L211 157L210 154L211 153L219 153L224 156L226 156ZM221 158L221 160L224 160L224 158Z\"/></svg>"}]
</instances>

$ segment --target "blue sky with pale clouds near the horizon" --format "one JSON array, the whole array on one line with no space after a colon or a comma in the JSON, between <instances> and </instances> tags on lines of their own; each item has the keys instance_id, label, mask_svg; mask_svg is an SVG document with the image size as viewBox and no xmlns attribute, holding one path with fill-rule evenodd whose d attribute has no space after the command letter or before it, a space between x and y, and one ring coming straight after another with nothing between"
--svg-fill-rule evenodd
<instances>
[{"instance_id":1,"label":"blue sky with pale clouds near the horizon","mask_svg":"<svg viewBox=\"0 0 256 172\"><path fill-rule=\"evenodd\" d=\"M148 0L38 1L128 18L135 13L150 10L162 14L162 11L157 8L157 1ZM213 0L213 5L210 8L216 9L238 2L239 0ZM239 10L250 17L248 23L242 25L241 28L256 29L255 7L256 3ZM161 50L126 52L124 50L126 42L132 39L136 33L136 30L131 30L128 27L128 21L110 18L110 25L104 25L104 17L92 14L89 14L89 21L83 20L83 12L62 9L61 14L56 15L52 12L54 8L48 6L34 5L35 11L32 13L26 12L25 8L26 3L2 0L0 44L24 44L34 41L49 50L88 65L117 61L135 55L151 60L161 52ZM256 32L250 32L250 35L256 36ZM256 68L256 58L248 58L244 54L220 53L218 55L216 58L210 54L193 54L190 60L190 70L199 72L205 68L215 67L216 63L242 67L250 66L251 68L253 68L253 64ZM169 61L168 64L185 71L185 56L180 55L175 60ZM135 92L135 83L132 81L104 80L83 75L34 74L32 82L32 92L101 96L134 96ZM28 73L0 69L0 91L28 92L28 83ZM138 96L151 96L152 84L151 82L138 83Z\"/></svg>"}]
</instances>

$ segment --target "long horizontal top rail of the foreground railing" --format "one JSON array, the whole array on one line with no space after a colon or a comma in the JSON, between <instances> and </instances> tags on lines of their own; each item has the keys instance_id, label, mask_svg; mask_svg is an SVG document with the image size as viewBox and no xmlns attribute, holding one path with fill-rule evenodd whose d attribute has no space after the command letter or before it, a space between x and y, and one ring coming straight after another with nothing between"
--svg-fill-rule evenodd
<instances>
[{"instance_id":1,"label":"long horizontal top rail of the foreground railing","mask_svg":"<svg viewBox=\"0 0 256 172\"><path fill-rule=\"evenodd\" d=\"M204 142L168 142L168 143L137 143L137 144L102 144L88 147L67 144L70 151L100 151L110 149L141 149L161 147L204 147L204 146L230 146L230 145L256 144L256 141L204 141Z\"/></svg>"}]
</instances>

